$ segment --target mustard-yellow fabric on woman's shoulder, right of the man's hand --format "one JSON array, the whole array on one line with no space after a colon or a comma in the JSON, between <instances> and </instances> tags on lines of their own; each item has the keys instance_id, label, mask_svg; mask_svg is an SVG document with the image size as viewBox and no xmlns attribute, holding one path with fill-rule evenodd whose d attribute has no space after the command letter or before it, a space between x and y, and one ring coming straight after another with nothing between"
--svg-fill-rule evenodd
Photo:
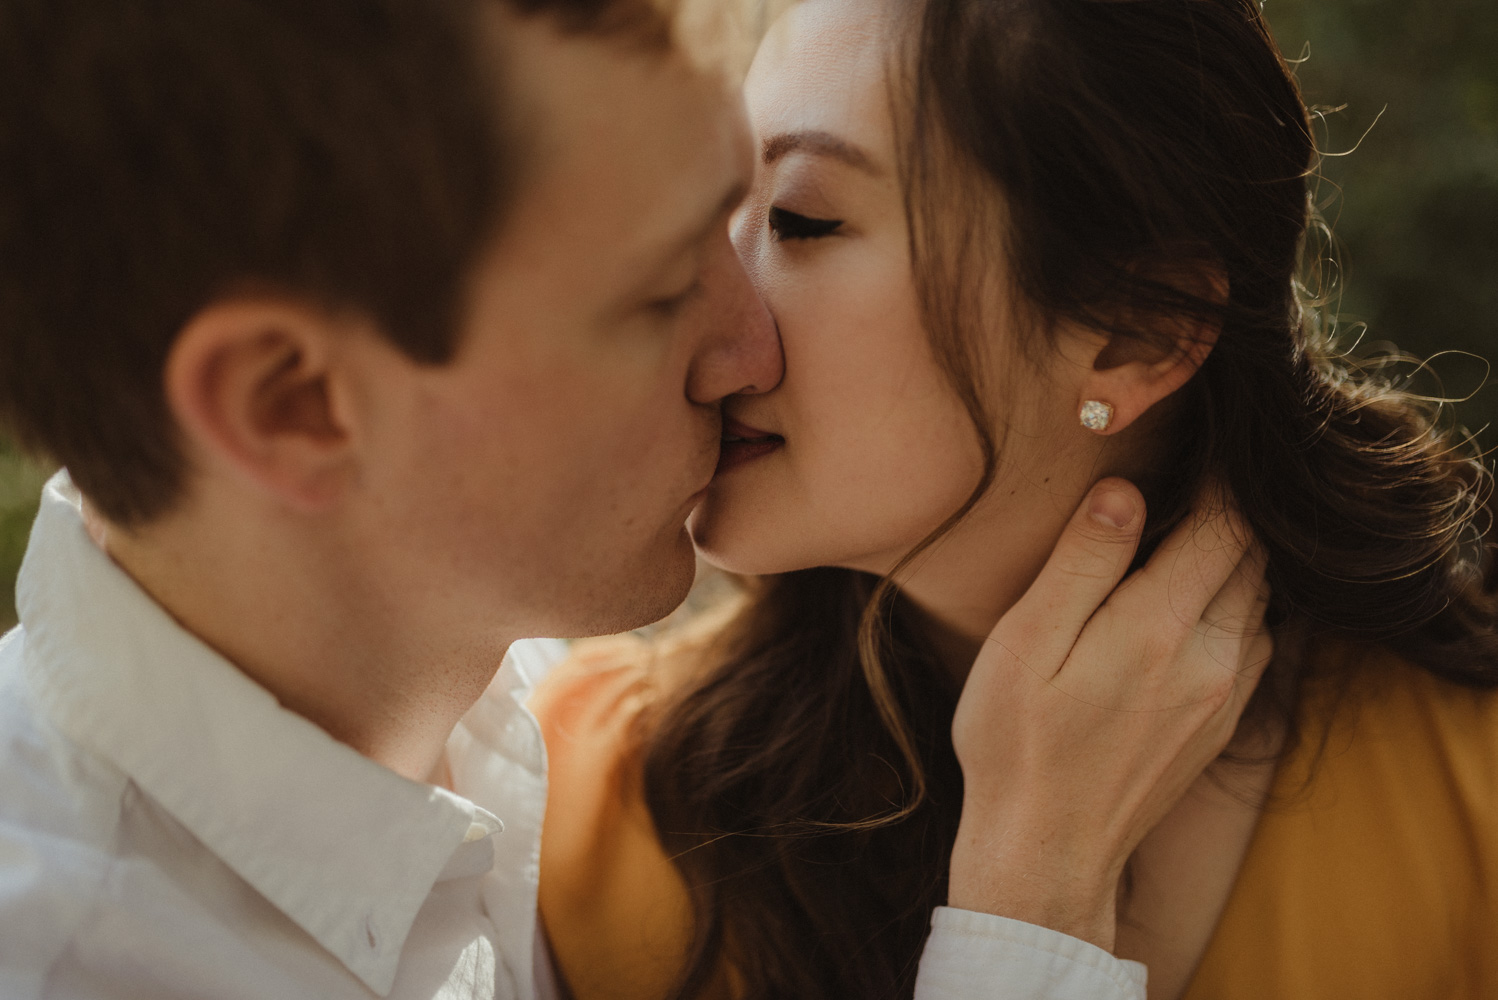
<instances>
[{"instance_id":1,"label":"mustard-yellow fabric on woman's shoulder, right of the man's hand","mask_svg":"<svg viewBox=\"0 0 1498 1000\"><path fill-rule=\"evenodd\" d=\"M1498 695L1354 677L1308 701L1186 1000L1498 999Z\"/></svg>"}]
</instances>

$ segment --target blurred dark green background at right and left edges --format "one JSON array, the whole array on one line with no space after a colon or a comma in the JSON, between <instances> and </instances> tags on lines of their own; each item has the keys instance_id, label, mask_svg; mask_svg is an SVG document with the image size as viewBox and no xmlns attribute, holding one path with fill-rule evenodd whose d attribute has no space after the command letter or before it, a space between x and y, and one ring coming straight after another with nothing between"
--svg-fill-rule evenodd
<instances>
[{"instance_id":1,"label":"blurred dark green background at right and left edges","mask_svg":"<svg viewBox=\"0 0 1498 1000\"><path fill-rule=\"evenodd\" d=\"M1321 147L1338 154L1320 196L1345 335L1363 350L1498 358L1498 0L1266 0L1264 12L1285 55L1303 57L1306 102L1326 109ZM1498 424L1498 389L1477 391L1482 361L1446 355L1435 371L1443 395L1473 397L1453 407L1461 422ZM4 626L43 479L0 442Z\"/></svg>"}]
</instances>

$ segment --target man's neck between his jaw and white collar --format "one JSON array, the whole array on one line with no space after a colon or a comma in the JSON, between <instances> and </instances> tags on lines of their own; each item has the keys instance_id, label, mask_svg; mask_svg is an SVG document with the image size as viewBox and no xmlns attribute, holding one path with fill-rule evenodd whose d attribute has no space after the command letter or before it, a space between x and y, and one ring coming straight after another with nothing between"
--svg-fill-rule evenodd
<instances>
[{"instance_id":1,"label":"man's neck between his jaw and white collar","mask_svg":"<svg viewBox=\"0 0 1498 1000\"><path fill-rule=\"evenodd\" d=\"M186 630L285 708L416 781L440 777L452 728L508 648L505 638L422 620L419 602L401 600L357 546L327 531L205 531L174 519L130 533L85 519Z\"/></svg>"}]
</instances>

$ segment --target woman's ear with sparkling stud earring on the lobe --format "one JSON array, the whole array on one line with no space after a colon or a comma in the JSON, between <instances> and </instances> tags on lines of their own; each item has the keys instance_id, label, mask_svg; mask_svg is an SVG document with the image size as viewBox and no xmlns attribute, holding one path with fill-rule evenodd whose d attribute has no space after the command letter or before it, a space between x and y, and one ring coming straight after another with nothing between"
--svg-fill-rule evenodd
<instances>
[{"instance_id":1,"label":"woman's ear with sparkling stud earring on the lobe","mask_svg":"<svg viewBox=\"0 0 1498 1000\"><path fill-rule=\"evenodd\" d=\"M1227 275L1219 268L1203 266L1191 275L1171 275L1170 283L1207 302L1224 305L1228 298ZM1221 323L1216 319L1177 316L1156 320L1153 337L1094 335L1091 371L1080 385L1079 413L1088 401L1112 407L1100 434L1116 434L1144 415L1152 406L1186 385L1216 346Z\"/></svg>"}]
</instances>

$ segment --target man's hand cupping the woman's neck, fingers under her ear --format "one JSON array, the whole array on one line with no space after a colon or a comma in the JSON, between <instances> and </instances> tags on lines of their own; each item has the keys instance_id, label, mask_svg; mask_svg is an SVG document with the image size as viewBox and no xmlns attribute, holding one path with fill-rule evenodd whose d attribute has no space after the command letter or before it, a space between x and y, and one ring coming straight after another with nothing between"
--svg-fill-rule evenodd
<instances>
[{"instance_id":1,"label":"man's hand cupping the woman's neck, fingers under her ear","mask_svg":"<svg viewBox=\"0 0 1498 1000\"><path fill-rule=\"evenodd\" d=\"M1112 951L1118 885L1227 746L1273 654L1264 557L1219 494L1119 584L1144 500L1104 479L968 677L954 907Z\"/></svg>"}]
</instances>

